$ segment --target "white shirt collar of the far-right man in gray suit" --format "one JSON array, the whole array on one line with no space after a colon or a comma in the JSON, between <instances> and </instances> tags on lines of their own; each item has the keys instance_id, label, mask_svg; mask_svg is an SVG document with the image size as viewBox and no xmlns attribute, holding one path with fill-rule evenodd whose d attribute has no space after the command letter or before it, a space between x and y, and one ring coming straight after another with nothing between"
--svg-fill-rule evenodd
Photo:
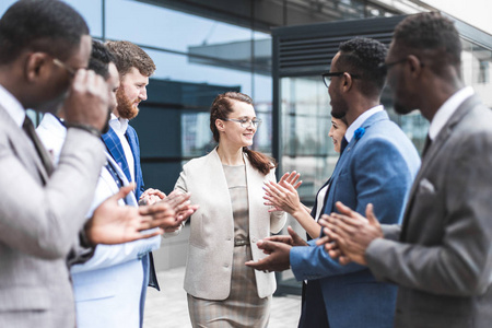
<instances>
[{"instance_id":1,"label":"white shirt collar of the far-right man in gray suit","mask_svg":"<svg viewBox=\"0 0 492 328\"><path fill-rule=\"evenodd\" d=\"M431 138L431 140L434 140L435 137L437 137L453 114L455 114L456 109L458 109L459 105L472 96L473 93L475 92L471 86L466 86L455 92L455 94L444 102L444 104L435 113L431 121L431 126L429 127L429 138Z\"/></svg>"}]
</instances>

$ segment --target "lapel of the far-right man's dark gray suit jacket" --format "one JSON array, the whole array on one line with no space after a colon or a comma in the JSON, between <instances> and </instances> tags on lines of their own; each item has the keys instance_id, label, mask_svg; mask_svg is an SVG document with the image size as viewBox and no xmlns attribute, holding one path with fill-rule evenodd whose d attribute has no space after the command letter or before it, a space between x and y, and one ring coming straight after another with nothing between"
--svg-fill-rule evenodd
<instances>
[{"instance_id":1,"label":"lapel of the far-right man's dark gray suit jacket","mask_svg":"<svg viewBox=\"0 0 492 328\"><path fill-rule=\"evenodd\" d=\"M415 192L420 185L420 181L422 177L424 177L427 174L429 167L431 166L431 163L437 159L440 151L444 148L444 144L447 140L449 140L449 136L453 133L454 128L456 125L462 119L462 117L469 112L470 108L475 107L480 103L479 98L477 96L471 96L468 99L466 99L453 114L453 116L449 118L449 120L446 122L446 125L443 127L443 129L440 131L440 133L436 136L435 140L432 141L431 145L429 147L425 156L422 159L422 164L420 166L419 173L417 174L415 179L413 180L413 185L410 189L409 194L409 201L407 203L407 207L405 209L405 215L403 215L403 223L401 229L401 235L400 239L405 241L409 224L409 219L411 215L413 201L415 199Z\"/></svg>"}]
</instances>

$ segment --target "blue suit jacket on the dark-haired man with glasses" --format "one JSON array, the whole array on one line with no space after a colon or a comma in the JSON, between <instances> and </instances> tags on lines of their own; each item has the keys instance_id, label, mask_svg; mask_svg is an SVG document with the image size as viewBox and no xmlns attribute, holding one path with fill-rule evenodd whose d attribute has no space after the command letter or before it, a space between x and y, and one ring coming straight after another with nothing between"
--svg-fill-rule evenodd
<instances>
[{"instance_id":1,"label":"blue suit jacket on the dark-haired man with glasses","mask_svg":"<svg viewBox=\"0 0 492 328\"><path fill-rule=\"evenodd\" d=\"M362 125L365 133L352 138L331 176L325 213L342 201L365 215L372 202L382 223L398 223L407 194L420 166L415 148L389 120L386 112ZM377 282L363 266L340 266L314 241L291 249L291 267L297 280L319 279L331 328L393 327L397 288Z\"/></svg>"}]
</instances>

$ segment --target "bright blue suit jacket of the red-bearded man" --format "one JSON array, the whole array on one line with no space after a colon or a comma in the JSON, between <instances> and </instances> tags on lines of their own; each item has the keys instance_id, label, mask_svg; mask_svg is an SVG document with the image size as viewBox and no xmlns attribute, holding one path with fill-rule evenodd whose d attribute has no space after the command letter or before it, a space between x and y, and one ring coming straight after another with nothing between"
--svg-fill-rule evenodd
<instances>
[{"instance_id":1,"label":"bright blue suit jacket of the red-bearded man","mask_svg":"<svg viewBox=\"0 0 492 328\"><path fill-rule=\"evenodd\" d=\"M125 137L127 137L131 152L133 153L134 179L136 179L134 183L137 184L134 194L138 200L140 199L140 195L142 195L142 192L144 191L142 167L140 166L139 137L137 136L137 131L130 125L127 128ZM125 157L125 151L122 149L118 136L116 134L115 130L113 130L113 128L109 128L109 131L103 134L103 141L106 144L106 148L112 154L115 162L118 163L119 167L121 167L122 172L127 176L127 179L131 181L130 169L128 167L127 159Z\"/></svg>"}]
</instances>

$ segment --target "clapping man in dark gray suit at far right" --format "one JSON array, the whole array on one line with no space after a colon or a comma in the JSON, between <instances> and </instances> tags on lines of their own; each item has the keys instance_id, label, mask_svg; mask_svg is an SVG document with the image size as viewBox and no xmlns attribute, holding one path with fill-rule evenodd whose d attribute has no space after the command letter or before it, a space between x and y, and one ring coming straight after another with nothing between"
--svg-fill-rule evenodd
<instances>
[{"instance_id":1,"label":"clapping man in dark gray suit at far right","mask_svg":"<svg viewBox=\"0 0 492 328\"><path fill-rule=\"evenodd\" d=\"M431 122L402 226L341 203L325 222L339 247L326 244L331 256L399 285L395 327L492 323L492 113L464 85L460 55L453 22L438 13L396 27L386 59L395 109L419 108Z\"/></svg>"}]
</instances>

